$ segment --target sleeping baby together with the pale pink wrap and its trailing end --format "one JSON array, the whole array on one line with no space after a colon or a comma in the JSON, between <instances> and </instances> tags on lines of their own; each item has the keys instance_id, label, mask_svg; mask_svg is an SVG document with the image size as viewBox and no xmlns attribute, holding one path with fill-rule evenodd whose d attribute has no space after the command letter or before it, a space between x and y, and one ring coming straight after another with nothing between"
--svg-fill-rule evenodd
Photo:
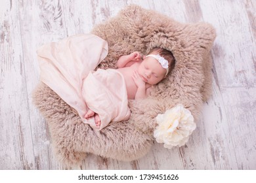
<instances>
[{"instance_id":1,"label":"sleeping baby together with the pale pink wrap and its trailing end","mask_svg":"<svg viewBox=\"0 0 256 183\"><path fill-rule=\"evenodd\" d=\"M128 120L128 100L144 99L174 65L171 52L154 48L147 56L121 56L117 69L95 71L107 54L108 42L93 34L74 35L37 50L41 81L97 131Z\"/></svg>"}]
</instances>

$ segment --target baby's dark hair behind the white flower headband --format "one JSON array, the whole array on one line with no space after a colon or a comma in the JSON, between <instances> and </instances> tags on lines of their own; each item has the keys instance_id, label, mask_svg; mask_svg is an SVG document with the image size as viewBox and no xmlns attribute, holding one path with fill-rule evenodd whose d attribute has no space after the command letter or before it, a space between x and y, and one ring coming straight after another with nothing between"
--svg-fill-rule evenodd
<instances>
[{"instance_id":1,"label":"baby's dark hair behind the white flower headband","mask_svg":"<svg viewBox=\"0 0 256 183\"><path fill-rule=\"evenodd\" d=\"M151 54L152 52L156 52L160 54L161 57L165 58L168 61L169 73L170 73L173 70L175 65L175 59L173 57L173 54L169 50L166 50L164 48L153 48L152 50L150 50L148 54Z\"/></svg>"}]
</instances>

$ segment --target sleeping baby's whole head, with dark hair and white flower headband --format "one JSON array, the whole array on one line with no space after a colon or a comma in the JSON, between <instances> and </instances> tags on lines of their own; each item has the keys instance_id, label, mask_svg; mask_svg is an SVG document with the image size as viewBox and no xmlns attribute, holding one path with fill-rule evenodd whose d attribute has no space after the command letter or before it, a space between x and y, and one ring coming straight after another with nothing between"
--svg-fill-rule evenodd
<instances>
[{"instance_id":1,"label":"sleeping baby's whole head, with dark hair and white flower headband","mask_svg":"<svg viewBox=\"0 0 256 183\"><path fill-rule=\"evenodd\" d=\"M138 73L144 82L158 84L173 69L174 63L171 52L163 48L154 48L147 56L144 56Z\"/></svg>"}]
</instances>

